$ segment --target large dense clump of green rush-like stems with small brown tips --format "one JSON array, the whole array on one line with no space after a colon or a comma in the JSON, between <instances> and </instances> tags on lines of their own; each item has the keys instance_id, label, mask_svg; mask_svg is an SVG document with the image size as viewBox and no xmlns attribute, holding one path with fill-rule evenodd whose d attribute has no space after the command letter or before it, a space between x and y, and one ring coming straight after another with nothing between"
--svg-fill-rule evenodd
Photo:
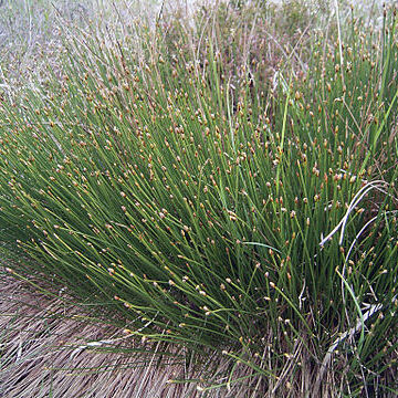
<instances>
[{"instance_id":1,"label":"large dense clump of green rush-like stems with small brown tips","mask_svg":"<svg viewBox=\"0 0 398 398\"><path fill-rule=\"evenodd\" d=\"M350 396L388 386L395 14L311 33L266 80L261 46L238 56L213 23L170 23L142 29L140 51L82 33L62 82L3 98L1 240L32 259L10 272L105 298L137 336L223 352L274 391L286 369L317 390L344 370Z\"/></svg>"}]
</instances>

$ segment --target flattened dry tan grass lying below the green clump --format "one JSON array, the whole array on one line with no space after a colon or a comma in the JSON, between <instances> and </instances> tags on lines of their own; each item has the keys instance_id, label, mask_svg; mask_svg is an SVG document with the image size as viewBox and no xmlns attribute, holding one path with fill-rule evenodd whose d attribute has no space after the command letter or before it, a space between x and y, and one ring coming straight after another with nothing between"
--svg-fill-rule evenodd
<instances>
[{"instance_id":1,"label":"flattened dry tan grass lying below the green clump","mask_svg":"<svg viewBox=\"0 0 398 398\"><path fill-rule=\"evenodd\" d=\"M134 347L121 328L95 322L82 312L77 314L75 306L61 298L44 296L23 282L1 276L1 398L258 396L254 380L252 386L201 392L198 386L208 378L210 364L217 364L212 375L222 375L228 373L227 362L210 355L200 369L195 369L193 360L172 353L170 347L168 355L160 354L165 348L159 345L147 346L145 353L144 345ZM237 368L234 376L239 377L239 373ZM196 381L176 384L170 379Z\"/></svg>"}]
</instances>

